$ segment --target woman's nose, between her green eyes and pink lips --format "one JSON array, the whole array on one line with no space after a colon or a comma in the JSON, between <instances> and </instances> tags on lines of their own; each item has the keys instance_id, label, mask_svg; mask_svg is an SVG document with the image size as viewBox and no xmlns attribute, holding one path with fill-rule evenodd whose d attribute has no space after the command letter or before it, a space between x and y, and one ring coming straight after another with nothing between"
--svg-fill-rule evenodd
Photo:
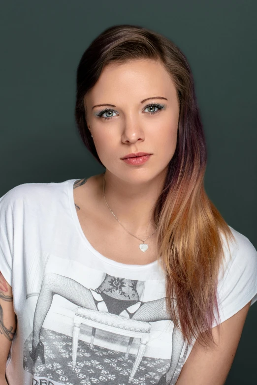
<instances>
[{"instance_id":1,"label":"woman's nose, between her green eyes and pink lips","mask_svg":"<svg viewBox=\"0 0 257 385\"><path fill-rule=\"evenodd\" d=\"M135 115L129 115L124 120L124 127L122 132L123 143L136 143L138 140L144 140L145 133L143 127L140 125L139 118Z\"/></svg>"}]
</instances>

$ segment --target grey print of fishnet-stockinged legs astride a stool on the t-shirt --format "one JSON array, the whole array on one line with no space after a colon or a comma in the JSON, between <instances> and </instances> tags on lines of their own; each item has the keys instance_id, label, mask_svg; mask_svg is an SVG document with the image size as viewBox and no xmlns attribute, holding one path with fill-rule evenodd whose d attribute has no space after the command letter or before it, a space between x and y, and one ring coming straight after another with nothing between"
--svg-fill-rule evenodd
<instances>
[{"instance_id":1,"label":"grey print of fishnet-stockinged legs astride a stool on the t-shirt","mask_svg":"<svg viewBox=\"0 0 257 385\"><path fill-rule=\"evenodd\" d=\"M42 378L48 379L42 382L48 385L175 384L188 346L181 357L185 340L174 328L171 358L145 355L153 324L168 321L170 316L165 296L145 302L140 299L144 285L145 281L104 273L94 289L68 276L45 272L32 333L24 344L24 369L32 373L32 385L41 384ZM60 332L61 328L44 327L55 295L75 305L69 334Z\"/></svg>"}]
</instances>

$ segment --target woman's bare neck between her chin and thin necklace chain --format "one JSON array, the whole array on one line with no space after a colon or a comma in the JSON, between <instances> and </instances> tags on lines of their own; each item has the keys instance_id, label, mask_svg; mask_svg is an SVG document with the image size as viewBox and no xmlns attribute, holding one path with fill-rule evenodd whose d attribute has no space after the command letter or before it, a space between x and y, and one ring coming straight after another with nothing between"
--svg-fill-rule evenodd
<instances>
[{"instance_id":1,"label":"woman's bare neck between her chin and thin necklace chain","mask_svg":"<svg viewBox=\"0 0 257 385\"><path fill-rule=\"evenodd\" d=\"M103 197L102 175L99 175L99 199L103 201L106 210L109 211ZM151 180L142 182L138 179L131 183L106 170L104 174L105 199L115 216L131 233L147 237L156 230L153 212L165 175L166 169Z\"/></svg>"}]
</instances>

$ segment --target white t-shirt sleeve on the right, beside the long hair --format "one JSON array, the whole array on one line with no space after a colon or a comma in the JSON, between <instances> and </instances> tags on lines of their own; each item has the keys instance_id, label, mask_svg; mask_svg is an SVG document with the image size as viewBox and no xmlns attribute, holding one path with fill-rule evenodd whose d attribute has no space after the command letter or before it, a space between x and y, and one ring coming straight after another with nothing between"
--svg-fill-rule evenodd
<instances>
[{"instance_id":1,"label":"white t-shirt sleeve on the right, beside the long hair","mask_svg":"<svg viewBox=\"0 0 257 385\"><path fill-rule=\"evenodd\" d=\"M231 259L225 248L225 269L218 283L220 320L214 326L232 317L248 302L253 305L257 301L257 250L247 237L230 229L236 242L230 247Z\"/></svg>"}]
</instances>

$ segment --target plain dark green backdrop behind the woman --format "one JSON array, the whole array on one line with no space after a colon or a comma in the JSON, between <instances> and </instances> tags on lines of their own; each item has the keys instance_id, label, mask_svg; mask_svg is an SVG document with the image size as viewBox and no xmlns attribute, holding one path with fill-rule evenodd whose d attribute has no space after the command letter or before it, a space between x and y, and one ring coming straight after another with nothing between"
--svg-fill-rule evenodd
<instances>
[{"instance_id":1,"label":"plain dark green backdrop behind the woman","mask_svg":"<svg viewBox=\"0 0 257 385\"><path fill-rule=\"evenodd\" d=\"M207 140L206 191L257 248L257 1L8 0L0 14L0 196L103 171L76 131L76 67L105 28L141 25L187 56ZM257 384L256 325L257 304L226 385Z\"/></svg>"}]
</instances>

